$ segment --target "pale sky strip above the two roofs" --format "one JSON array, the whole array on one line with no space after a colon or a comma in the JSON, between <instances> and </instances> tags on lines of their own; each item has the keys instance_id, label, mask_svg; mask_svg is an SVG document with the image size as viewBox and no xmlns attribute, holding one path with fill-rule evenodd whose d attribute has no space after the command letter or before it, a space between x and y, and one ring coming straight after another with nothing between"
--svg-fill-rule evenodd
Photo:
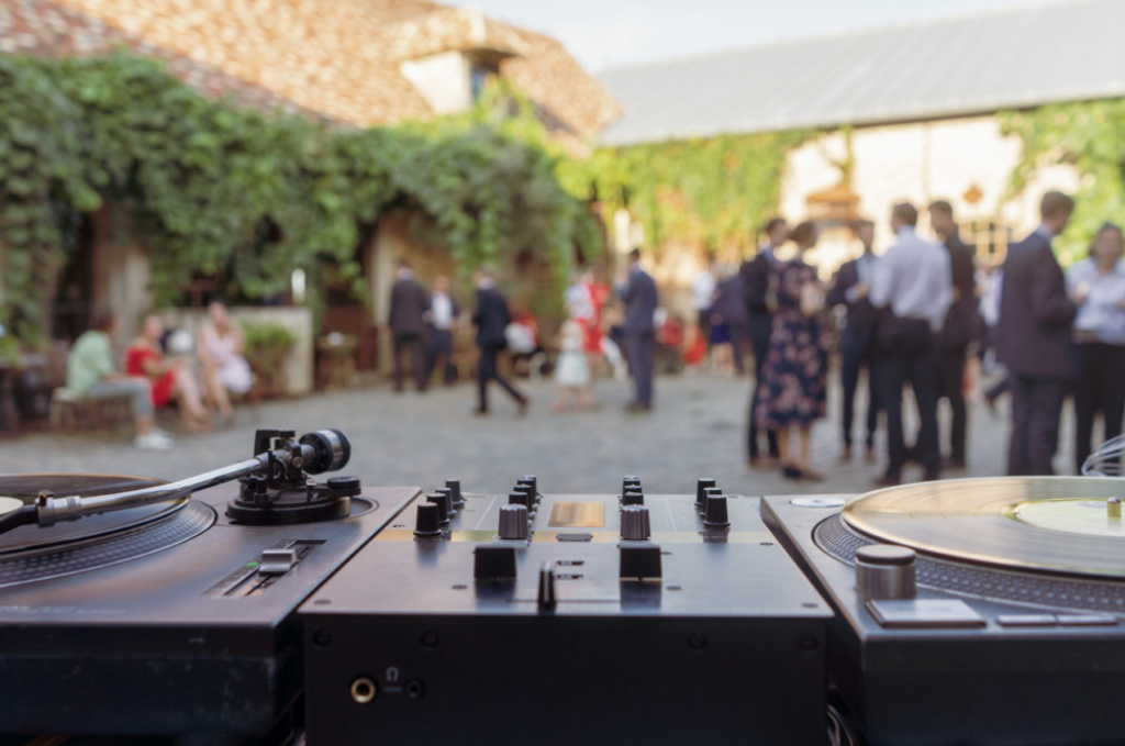
<instances>
[{"instance_id":1,"label":"pale sky strip above the two roofs","mask_svg":"<svg viewBox=\"0 0 1125 746\"><path fill-rule=\"evenodd\" d=\"M1051 0L1047 0L1051 1ZM1052 5L1074 0L1053 0ZM446 0L549 34L590 72L1044 0Z\"/></svg>"}]
</instances>

